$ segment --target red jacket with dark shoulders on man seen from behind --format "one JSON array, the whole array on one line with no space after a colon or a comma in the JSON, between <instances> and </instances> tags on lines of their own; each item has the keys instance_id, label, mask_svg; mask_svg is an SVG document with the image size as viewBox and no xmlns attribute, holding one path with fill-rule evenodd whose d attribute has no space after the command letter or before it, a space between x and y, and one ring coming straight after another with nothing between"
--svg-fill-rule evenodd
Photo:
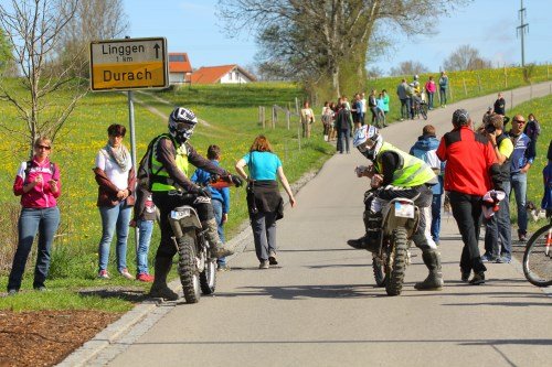
<instances>
[{"instance_id":1,"label":"red jacket with dark shoulders on man seen from behind","mask_svg":"<svg viewBox=\"0 0 552 367\"><path fill-rule=\"evenodd\" d=\"M482 196L492 188L490 169L497 163L487 137L467 126L445 133L437 156L446 161L445 190Z\"/></svg>"}]
</instances>

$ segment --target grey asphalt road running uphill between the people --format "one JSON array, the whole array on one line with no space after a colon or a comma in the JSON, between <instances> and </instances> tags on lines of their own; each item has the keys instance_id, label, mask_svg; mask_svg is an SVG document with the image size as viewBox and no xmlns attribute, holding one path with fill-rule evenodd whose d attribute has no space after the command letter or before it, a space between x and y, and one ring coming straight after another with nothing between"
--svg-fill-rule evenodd
<instances>
[{"instance_id":1,"label":"grey asphalt road running uphill between the people","mask_svg":"<svg viewBox=\"0 0 552 367\"><path fill-rule=\"evenodd\" d=\"M514 91L514 104L549 94L550 84ZM510 107L512 95L505 94ZM455 108L480 121L496 96L395 123L384 138L408 149L425 123L442 136ZM347 239L362 235L364 159L337 154L278 222L280 267L258 270L251 236L245 252L219 273L214 296L183 301L113 359L110 366L550 366L552 298L529 284L519 265L489 265L485 285L459 281L461 241L444 215L445 288L420 292L426 268L418 250L401 296L374 288L369 252ZM149 326L148 326L149 327Z\"/></svg>"}]
</instances>

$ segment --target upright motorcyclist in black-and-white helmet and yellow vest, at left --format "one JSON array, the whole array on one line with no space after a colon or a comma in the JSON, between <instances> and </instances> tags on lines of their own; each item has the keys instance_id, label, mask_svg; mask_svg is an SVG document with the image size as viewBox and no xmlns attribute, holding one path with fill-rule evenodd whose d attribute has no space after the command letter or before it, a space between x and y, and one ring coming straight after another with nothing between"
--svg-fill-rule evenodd
<instances>
[{"instance_id":1,"label":"upright motorcyclist in black-and-white helmet and yellow vest, at left","mask_svg":"<svg viewBox=\"0 0 552 367\"><path fill-rule=\"evenodd\" d=\"M178 300L179 295L167 287L167 276L172 265L177 248L171 240L172 230L169 223L170 212L182 205L191 205L198 212L205 238L213 247L212 256L220 258L233 251L222 244L217 234L216 220L211 205L209 187L202 187L190 181L189 165L203 169L212 174L226 176L236 186L242 179L231 175L225 170L201 156L189 140L193 133L198 118L183 107L177 107L169 116L169 133L156 138L151 156L151 192L153 203L160 211L161 241L156 253L156 279L150 295L167 300Z\"/></svg>"}]
</instances>

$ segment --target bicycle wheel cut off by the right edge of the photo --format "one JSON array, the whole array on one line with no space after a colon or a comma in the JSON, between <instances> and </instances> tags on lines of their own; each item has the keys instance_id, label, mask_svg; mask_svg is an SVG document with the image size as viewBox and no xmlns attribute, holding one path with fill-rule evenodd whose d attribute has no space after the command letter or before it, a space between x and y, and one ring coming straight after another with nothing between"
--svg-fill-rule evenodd
<instances>
[{"instance_id":1,"label":"bicycle wheel cut off by the right edge of the photo","mask_svg":"<svg viewBox=\"0 0 552 367\"><path fill-rule=\"evenodd\" d=\"M527 242L523 273L537 287L552 284L552 224L540 228Z\"/></svg>"}]
</instances>

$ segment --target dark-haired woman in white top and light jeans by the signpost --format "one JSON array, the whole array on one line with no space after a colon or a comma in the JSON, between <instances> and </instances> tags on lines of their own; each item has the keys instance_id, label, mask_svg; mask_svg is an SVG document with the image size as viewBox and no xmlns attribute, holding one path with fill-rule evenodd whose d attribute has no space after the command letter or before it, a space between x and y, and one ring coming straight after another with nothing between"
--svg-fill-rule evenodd
<instances>
[{"instance_id":1,"label":"dark-haired woman in white top and light jeans by the signpost","mask_svg":"<svg viewBox=\"0 0 552 367\"><path fill-rule=\"evenodd\" d=\"M96 155L96 182L98 183L97 206L102 216L102 239L98 245L98 278L109 279L107 263L109 247L117 231L117 270L134 279L127 269L127 237L135 198L135 169L128 149L123 144L127 129L118 123L107 128L107 144Z\"/></svg>"}]
</instances>

